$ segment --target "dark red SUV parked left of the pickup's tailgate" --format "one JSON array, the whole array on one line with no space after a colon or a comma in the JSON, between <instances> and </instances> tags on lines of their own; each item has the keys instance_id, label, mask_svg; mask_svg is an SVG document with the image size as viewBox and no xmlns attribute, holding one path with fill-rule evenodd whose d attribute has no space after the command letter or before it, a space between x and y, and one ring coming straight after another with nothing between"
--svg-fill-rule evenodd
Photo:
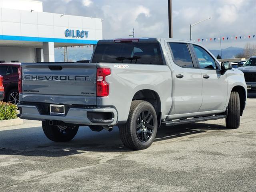
<instances>
[{"instance_id":1,"label":"dark red SUV parked left of the pickup's tailgate","mask_svg":"<svg viewBox=\"0 0 256 192\"><path fill-rule=\"evenodd\" d=\"M19 102L18 92L18 68L20 63L0 63L0 75L4 79L4 90L6 102L17 104Z\"/></svg>"}]
</instances>

